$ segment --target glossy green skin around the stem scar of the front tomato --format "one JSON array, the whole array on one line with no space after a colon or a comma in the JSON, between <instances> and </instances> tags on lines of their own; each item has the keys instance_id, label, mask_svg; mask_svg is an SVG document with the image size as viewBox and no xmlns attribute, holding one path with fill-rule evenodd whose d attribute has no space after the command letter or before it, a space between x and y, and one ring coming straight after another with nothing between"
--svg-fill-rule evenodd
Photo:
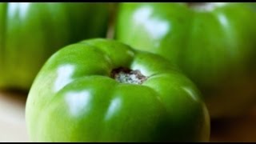
<instances>
[{"instance_id":1,"label":"glossy green skin around the stem scar of the front tomato","mask_svg":"<svg viewBox=\"0 0 256 144\"><path fill-rule=\"evenodd\" d=\"M210 118L200 92L166 59L110 39L90 39L55 53L26 102L32 142L207 142ZM140 70L142 85L110 78Z\"/></svg>"}]
</instances>

